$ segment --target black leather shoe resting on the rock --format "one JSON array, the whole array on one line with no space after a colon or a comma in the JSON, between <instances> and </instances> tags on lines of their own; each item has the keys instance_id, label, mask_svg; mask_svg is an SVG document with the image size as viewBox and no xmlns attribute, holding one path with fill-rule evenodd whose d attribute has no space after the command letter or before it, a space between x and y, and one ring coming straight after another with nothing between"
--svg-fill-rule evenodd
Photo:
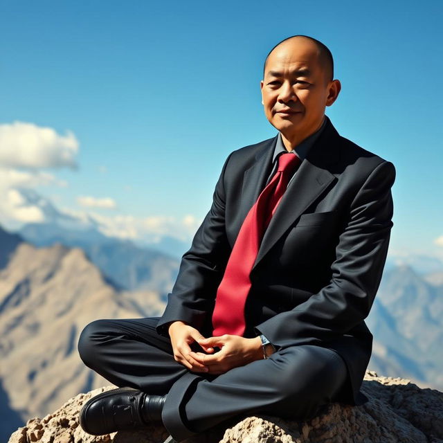
<instances>
[{"instance_id":1,"label":"black leather shoe resting on the rock","mask_svg":"<svg viewBox=\"0 0 443 443\"><path fill-rule=\"evenodd\" d=\"M143 428L147 426L142 411L146 397L145 392L133 388L102 392L89 399L80 410L80 426L91 435Z\"/></svg>"}]
</instances>

